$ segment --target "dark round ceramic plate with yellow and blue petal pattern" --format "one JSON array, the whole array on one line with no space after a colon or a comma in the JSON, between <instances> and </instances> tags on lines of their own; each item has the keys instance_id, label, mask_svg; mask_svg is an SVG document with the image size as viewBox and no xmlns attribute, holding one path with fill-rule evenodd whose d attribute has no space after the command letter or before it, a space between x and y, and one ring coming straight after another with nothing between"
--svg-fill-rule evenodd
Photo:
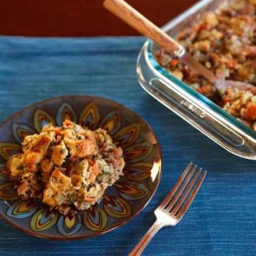
<instances>
[{"instance_id":1,"label":"dark round ceramic plate with yellow and blue petal pattern","mask_svg":"<svg viewBox=\"0 0 256 256\"><path fill-rule=\"evenodd\" d=\"M124 176L106 189L100 203L72 219L31 200L20 200L9 180L6 160L21 152L25 136L40 133L49 122L70 119L91 130L102 127L122 147ZM88 238L131 220L152 198L161 176L161 150L150 126L124 106L98 97L64 96L35 103L0 127L0 215L34 236L67 240Z\"/></svg>"}]
</instances>

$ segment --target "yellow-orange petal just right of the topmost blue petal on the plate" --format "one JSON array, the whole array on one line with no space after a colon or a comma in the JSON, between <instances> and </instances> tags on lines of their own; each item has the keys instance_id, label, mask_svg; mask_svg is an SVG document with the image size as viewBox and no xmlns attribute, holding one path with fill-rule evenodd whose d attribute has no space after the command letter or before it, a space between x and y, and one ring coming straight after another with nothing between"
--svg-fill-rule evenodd
<instances>
[{"instance_id":1,"label":"yellow-orange petal just right of the topmost blue petal on the plate","mask_svg":"<svg viewBox=\"0 0 256 256\"><path fill-rule=\"evenodd\" d=\"M86 126L89 129L94 129L100 120L99 108L97 104L92 101L82 110L79 117L79 124Z\"/></svg>"}]
</instances>

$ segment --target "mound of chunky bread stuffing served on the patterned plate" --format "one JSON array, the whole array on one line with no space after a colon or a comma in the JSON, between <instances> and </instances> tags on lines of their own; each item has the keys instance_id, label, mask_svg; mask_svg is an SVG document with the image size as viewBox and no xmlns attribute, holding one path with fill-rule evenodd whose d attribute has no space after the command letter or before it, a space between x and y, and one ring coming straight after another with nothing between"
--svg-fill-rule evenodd
<instances>
[{"instance_id":1,"label":"mound of chunky bread stuffing served on the patterned plate","mask_svg":"<svg viewBox=\"0 0 256 256\"><path fill-rule=\"evenodd\" d=\"M7 162L9 177L22 200L34 199L63 215L98 203L123 175L122 150L103 129L91 131L65 120L28 135L23 153Z\"/></svg>"}]
</instances>

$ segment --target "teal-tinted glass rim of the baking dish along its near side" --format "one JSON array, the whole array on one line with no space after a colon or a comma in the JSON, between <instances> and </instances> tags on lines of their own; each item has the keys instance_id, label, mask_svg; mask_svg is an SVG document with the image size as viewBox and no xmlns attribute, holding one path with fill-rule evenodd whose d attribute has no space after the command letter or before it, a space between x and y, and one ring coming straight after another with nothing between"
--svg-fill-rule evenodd
<instances>
[{"instance_id":1,"label":"teal-tinted glass rim of the baking dish along its near side","mask_svg":"<svg viewBox=\"0 0 256 256\"><path fill-rule=\"evenodd\" d=\"M195 99L199 100L201 103L203 103L207 108L209 108L211 111L214 111L215 113L218 113L222 118L224 118L226 121L230 122L232 125L236 126L238 129L242 130L244 133L246 133L249 136L252 136L253 138L256 137L256 132L254 132L252 129L247 127L244 123L237 120L235 117L228 114L226 111L220 108L216 103L212 102L193 88L191 88L188 84L185 82L179 80L172 74L170 74L164 67L162 67L157 60L155 59L151 49L153 45L153 41L151 39L147 39L146 41L147 47L146 47L146 54L148 57L148 60L150 61L150 64L152 65L152 68L159 72L161 75L163 75L165 78L169 79L170 81L177 84L183 91L188 93L189 95L193 96Z\"/></svg>"}]
</instances>

